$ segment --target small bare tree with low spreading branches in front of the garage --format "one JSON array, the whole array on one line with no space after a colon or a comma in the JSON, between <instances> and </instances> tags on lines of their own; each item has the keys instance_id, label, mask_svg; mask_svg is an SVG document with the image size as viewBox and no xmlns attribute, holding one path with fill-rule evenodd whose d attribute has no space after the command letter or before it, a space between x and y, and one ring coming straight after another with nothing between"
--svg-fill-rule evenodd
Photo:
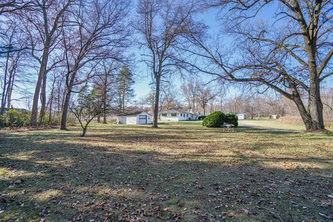
<instances>
[{"instance_id":1,"label":"small bare tree with low spreading branches in front of the garage","mask_svg":"<svg viewBox=\"0 0 333 222\"><path fill-rule=\"evenodd\" d=\"M103 102L99 99L99 94L96 93L96 89L92 89L87 92L87 89L83 89L78 94L77 103L73 103L69 108L73 112L76 119L80 123L82 128L81 137L85 137L89 123L102 112Z\"/></svg>"}]
</instances>

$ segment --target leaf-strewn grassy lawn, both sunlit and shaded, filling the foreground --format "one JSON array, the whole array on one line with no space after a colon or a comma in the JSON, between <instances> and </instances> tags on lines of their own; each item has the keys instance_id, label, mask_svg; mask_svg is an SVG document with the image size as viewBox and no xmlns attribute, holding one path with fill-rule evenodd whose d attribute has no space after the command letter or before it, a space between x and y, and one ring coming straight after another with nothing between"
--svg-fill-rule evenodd
<instances>
[{"instance_id":1,"label":"leaf-strewn grassy lawn, both sunlit and shaded, filling the foreground","mask_svg":"<svg viewBox=\"0 0 333 222\"><path fill-rule=\"evenodd\" d=\"M274 127L275 128L275 127ZM200 122L10 133L0 221L330 221L333 137Z\"/></svg>"}]
</instances>

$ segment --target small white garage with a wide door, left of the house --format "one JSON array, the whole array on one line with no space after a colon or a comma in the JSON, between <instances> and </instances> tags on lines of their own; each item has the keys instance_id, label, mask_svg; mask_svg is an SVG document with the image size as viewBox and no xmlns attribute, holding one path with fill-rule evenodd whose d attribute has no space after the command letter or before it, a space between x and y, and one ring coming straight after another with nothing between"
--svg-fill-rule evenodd
<instances>
[{"instance_id":1,"label":"small white garage with a wide door, left of the house","mask_svg":"<svg viewBox=\"0 0 333 222\"><path fill-rule=\"evenodd\" d=\"M151 124L151 114L143 111L118 114L117 124Z\"/></svg>"}]
</instances>

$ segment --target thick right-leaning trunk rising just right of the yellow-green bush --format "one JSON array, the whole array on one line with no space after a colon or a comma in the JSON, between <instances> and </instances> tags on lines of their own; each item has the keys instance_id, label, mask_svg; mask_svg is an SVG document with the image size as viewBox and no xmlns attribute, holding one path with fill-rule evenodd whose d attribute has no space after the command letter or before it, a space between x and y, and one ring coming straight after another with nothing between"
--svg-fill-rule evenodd
<instances>
[{"instance_id":1,"label":"thick right-leaning trunk rising just right of the yellow-green bush","mask_svg":"<svg viewBox=\"0 0 333 222\"><path fill-rule=\"evenodd\" d=\"M47 41L47 40L46 40ZM38 99L40 97L40 88L42 87L42 80L46 73L47 60L49 58L49 46L44 46L42 62L40 64L40 70L38 71L38 78L35 87L35 93L33 94L33 108L31 109L31 125L37 126L38 115Z\"/></svg>"}]
</instances>

